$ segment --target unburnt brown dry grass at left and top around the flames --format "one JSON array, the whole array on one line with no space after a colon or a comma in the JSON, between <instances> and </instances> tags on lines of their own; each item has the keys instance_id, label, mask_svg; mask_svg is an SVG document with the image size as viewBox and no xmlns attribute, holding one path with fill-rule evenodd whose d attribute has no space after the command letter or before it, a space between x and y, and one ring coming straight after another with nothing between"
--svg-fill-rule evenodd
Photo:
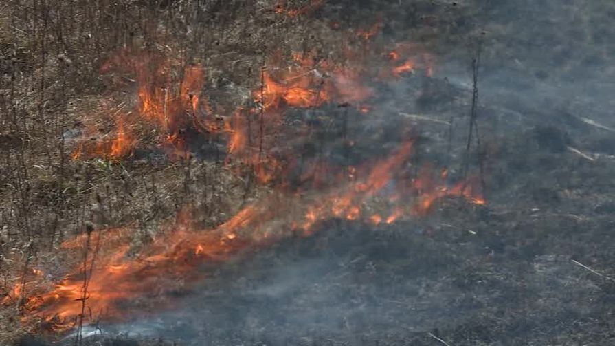
<instances>
[{"instance_id":1,"label":"unburnt brown dry grass at left and top around the flames","mask_svg":"<svg viewBox=\"0 0 615 346\"><path fill-rule=\"evenodd\" d=\"M172 3L171 6L165 5ZM248 186L245 176L221 160L168 160L152 153L126 160L85 158L71 154L88 136L109 136L109 114L135 107L131 72L100 73L118 52L148 52L205 67L205 88L216 103L216 116L226 117L237 105L251 105L250 91L260 83L260 68L287 60L291 52L315 52L344 63L342 47L361 46L355 34L378 21L364 16L352 1L334 1L315 17L287 17L275 11L277 1L69 1L10 0L0 5L0 277L3 289L21 277L25 263L50 268L51 283L63 274L58 246L85 231L130 225L133 248L146 244L165 220L189 201L203 226L216 226L246 201L267 191ZM307 1L289 1L301 8ZM459 44L467 28L449 25L460 16L445 3L414 1L418 14L405 26L388 23L396 39L412 37L434 52L443 43ZM344 6L353 8L344 16ZM396 8L382 6L395 13ZM473 15L471 4L460 4ZM322 19L319 16L331 15ZM332 23L341 22L340 25ZM470 30L471 31L471 30ZM395 41L378 36L376 51ZM139 145L155 147L150 127L134 129ZM222 143L223 144L223 143ZM164 155L163 155L164 156ZM159 160L159 161L157 161ZM40 332L19 323L19 303L3 307L0 344L24 332ZM26 329L20 329L26 328Z\"/></svg>"}]
</instances>

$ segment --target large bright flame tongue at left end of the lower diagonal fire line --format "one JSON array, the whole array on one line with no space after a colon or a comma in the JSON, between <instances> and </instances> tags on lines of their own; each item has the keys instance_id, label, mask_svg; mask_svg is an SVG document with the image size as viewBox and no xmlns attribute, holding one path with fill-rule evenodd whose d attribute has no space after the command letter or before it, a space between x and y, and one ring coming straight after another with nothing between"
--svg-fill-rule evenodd
<instances>
[{"instance_id":1,"label":"large bright flame tongue at left end of the lower diagonal fire line","mask_svg":"<svg viewBox=\"0 0 615 346\"><path fill-rule=\"evenodd\" d=\"M126 241L120 238L107 239L114 243ZM100 233L92 236L91 244L102 243ZM82 239L82 237L80 237ZM221 230L203 233L177 231L155 239L151 248L131 260L126 257L128 246L104 246L100 248L98 265L92 270L87 288L87 305L95 316L119 318L123 302L138 296L152 294L164 287L169 279L183 278L188 281L199 279L196 267L203 261L223 261L228 255L241 248L241 241L233 237L222 240ZM187 250L192 248L192 252ZM183 263L182 266L178 266ZM25 307L34 316L43 318L58 330L71 328L81 314L83 292L83 268L78 266L73 274L58 283L45 294L27 301ZM162 276L162 279L158 279Z\"/></svg>"}]
</instances>

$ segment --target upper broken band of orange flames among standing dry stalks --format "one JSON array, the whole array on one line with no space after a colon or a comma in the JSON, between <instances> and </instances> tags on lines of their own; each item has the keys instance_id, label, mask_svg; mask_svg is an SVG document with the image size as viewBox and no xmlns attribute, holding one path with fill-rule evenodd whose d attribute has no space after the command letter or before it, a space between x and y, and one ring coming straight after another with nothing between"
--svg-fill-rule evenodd
<instances>
[{"instance_id":1,"label":"upper broken band of orange flames among standing dry stalks","mask_svg":"<svg viewBox=\"0 0 615 346\"><path fill-rule=\"evenodd\" d=\"M299 8L289 9L287 1L278 1L276 12L295 17L323 6L324 2L312 0ZM355 34L368 41L382 27L383 21L378 18L369 28L359 29ZM265 109L264 121L269 127L266 131L269 134L276 132L272 122L280 120L286 107L310 108L338 102L353 105L361 113L369 113L370 108L362 103L374 95L374 89L366 81L375 76L370 75L370 70L373 72L374 69L370 67L372 61L366 56L366 44L361 47L343 45L342 55L347 60L343 64L328 60L322 56L322 52L304 51L291 53L291 65L278 66L282 54L274 53L270 61L276 64L263 71L262 89L259 86L252 91L254 100ZM376 54L376 57L386 57L394 65L385 71L379 69L377 78L399 78L418 68L425 69L427 76L434 73L434 56L421 50L416 43L396 43L383 52ZM399 64L402 57L405 58L404 63ZM210 105L204 93L205 69L199 64L186 66L177 58L124 49L102 64L100 73L109 72L133 74L137 84L135 109L125 112L131 116L111 116L117 129L115 135L110 133L101 137L95 132L87 133L88 139L78 144L71 155L74 160L91 157L115 160L126 158L139 142L139 133L133 133L134 129L157 133L159 144L167 153L182 157L188 154L182 129L191 128L204 136L224 131L229 136L230 153L242 151L241 148L245 148L249 142L247 138L254 135L245 129L238 129L242 125L237 123L230 125L229 122L218 122L218 119L225 116L218 116L214 112L216 107ZM225 127L219 126L222 123ZM228 131L230 127L232 131ZM91 142L89 138L98 139ZM247 156L254 157L252 154Z\"/></svg>"}]
</instances>

